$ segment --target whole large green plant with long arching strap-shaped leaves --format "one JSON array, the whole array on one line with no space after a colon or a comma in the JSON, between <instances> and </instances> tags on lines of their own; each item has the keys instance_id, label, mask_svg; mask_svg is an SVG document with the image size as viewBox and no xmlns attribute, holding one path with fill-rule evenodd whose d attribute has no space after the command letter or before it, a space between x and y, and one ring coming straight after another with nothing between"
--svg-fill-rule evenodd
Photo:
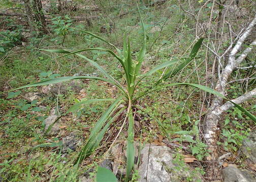
<instances>
[{"instance_id":1,"label":"whole large green plant with long arching strap-shaped leaves","mask_svg":"<svg viewBox=\"0 0 256 182\"><path fill-rule=\"evenodd\" d=\"M138 7L139 10L139 7ZM146 72L145 74L140 74L140 68L142 65L142 62L145 58L146 54L146 43L147 43L147 36L145 32L145 27L143 24L143 20L139 11L140 19L141 19L141 24L142 24L142 29L143 29L143 34L144 34L144 39L143 39L143 44L142 48L139 52L137 60L133 60L132 58L132 51L131 51L131 46L130 46L130 39L124 37L123 40L123 49L120 50L118 49L114 44L108 42L104 38L95 35L91 32L85 31L85 30L79 30L76 28L72 28L77 31L81 31L83 33L89 34L95 38L98 38L99 40L102 40L103 42L106 42L109 44L115 51L112 51L110 49L105 49L105 48L88 48L88 49L83 49L79 50L76 52L69 52L65 50L43 50L47 52L52 52L52 53L62 53L65 54L61 57L66 57L70 55L75 55L78 56L86 61L88 61L92 66L97 68L103 75L104 77L98 77L98 76L65 76L65 77L58 77L58 78L53 78L53 79L48 79L44 81L40 81L37 83L31 83L27 84L25 86L21 86L16 89L21 89L25 87L32 87L32 86L40 86L40 85L47 85L47 84L54 84L58 82L63 82L63 81L68 81L72 79L94 79L94 80L103 80L108 83L111 83L115 86L117 86L120 90L120 96L117 97L117 99L91 99L91 100L86 100L86 101L81 101L75 105L73 105L68 112L75 111L77 110L82 104L89 104L92 102L101 102L101 101L114 101L107 109L106 111L102 114L101 118L97 121L95 124L94 128L92 129L89 138L87 139L87 142L85 143L84 147L80 151L77 160L75 161L75 164L80 164L86 157L88 157L92 152L100 145L104 134L108 130L109 126L111 123L117 118L117 116L120 115L123 111L126 110L126 115L123 121L122 126L124 126L125 123L129 123L129 127L127 129L128 131L128 136L127 136L127 157L126 157L126 177L125 181L129 180L130 173L133 170L134 167L134 158L135 158L135 149L134 149L134 113L133 113L133 106L135 102L147 95L148 93L154 92L156 90L163 89L168 86L175 86L175 85L190 85L190 86L195 86L198 87L202 90L205 90L206 92L215 94L219 97L225 98L221 94L217 93L215 90L208 88L203 85L199 84L194 84L194 83L170 83L170 84L165 84L163 81L170 79L171 77L175 76L177 73L179 73L187 64L189 64L194 58L196 57L200 46L202 44L203 38L200 38L194 45L193 49L191 50L189 57L184 58L184 59L174 59L171 61L164 62L155 68L151 69L150 71ZM98 63L90 60L89 58L85 57L84 55L81 55L81 52L85 51L91 51L91 50L98 50L98 51L104 51L110 53L122 66L122 69L125 74L125 81L126 84L122 85L120 82L118 82L114 77L112 77L107 71L105 71ZM114 53L116 52L116 53ZM177 66L178 65L178 66ZM161 78L158 79L158 81L152 83L152 86L150 86L146 91L141 92L140 91L137 93L137 87L141 83L141 81L144 78L147 78L151 74L155 73L157 70L164 69L168 67L169 71L167 71ZM227 99L227 98L225 98ZM123 104L124 107L120 109L120 105ZM235 104L235 103L234 103ZM236 105L236 104L235 104ZM251 119L256 121L256 118L251 115L248 111L246 111L244 108L236 105L240 110L245 112ZM67 113L68 113L67 112Z\"/></svg>"}]
</instances>

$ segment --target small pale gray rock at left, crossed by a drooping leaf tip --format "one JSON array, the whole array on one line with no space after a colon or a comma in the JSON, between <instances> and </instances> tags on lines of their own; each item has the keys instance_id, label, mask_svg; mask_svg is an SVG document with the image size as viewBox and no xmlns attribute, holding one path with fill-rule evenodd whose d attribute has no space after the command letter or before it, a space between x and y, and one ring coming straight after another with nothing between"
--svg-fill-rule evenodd
<instances>
[{"instance_id":1,"label":"small pale gray rock at left, crossed by a drooping leaf tip","mask_svg":"<svg viewBox=\"0 0 256 182\"><path fill-rule=\"evenodd\" d=\"M54 123L56 121L56 119L59 116L56 113L56 108L52 108L50 116L48 116L48 118L45 119L45 131L47 131L47 129L50 127L50 125L52 123ZM47 135L55 135L59 132L59 123L60 123L61 119L59 119L58 121L56 121L53 126L51 127L50 131L47 133Z\"/></svg>"}]
</instances>

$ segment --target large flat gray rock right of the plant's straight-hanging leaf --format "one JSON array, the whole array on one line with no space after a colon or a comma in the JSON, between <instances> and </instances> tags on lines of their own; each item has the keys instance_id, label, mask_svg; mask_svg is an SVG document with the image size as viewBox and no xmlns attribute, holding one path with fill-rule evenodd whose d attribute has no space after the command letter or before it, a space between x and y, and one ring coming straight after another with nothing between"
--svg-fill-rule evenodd
<instances>
[{"instance_id":1,"label":"large flat gray rock right of the plant's straight-hanging leaf","mask_svg":"<svg viewBox=\"0 0 256 182\"><path fill-rule=\"evenodd\" d=\"M139 182L183 181L190 177L192 181L201 181L199 175L186 166L173 162L173 152L166 146L146 145L141 151Z\"/></svg>"}]
</instances>

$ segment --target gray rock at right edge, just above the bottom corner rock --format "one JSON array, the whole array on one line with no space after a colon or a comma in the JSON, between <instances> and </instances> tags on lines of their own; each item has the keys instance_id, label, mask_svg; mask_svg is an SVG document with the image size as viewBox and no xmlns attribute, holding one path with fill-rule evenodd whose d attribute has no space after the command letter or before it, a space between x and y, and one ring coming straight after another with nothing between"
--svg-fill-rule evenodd
<instances>
[{"instance_id":1,"label":"gray rock at right edge, just above the bottom corner rock","mask_svg":"<svg viewBox=\"0 0 256 182\"><path fill-rule=\"evenodd\" d=\"M251 132L243 141L241 150L252 163L256 164L256 132Z\"/></svg>"}]
</instances>

